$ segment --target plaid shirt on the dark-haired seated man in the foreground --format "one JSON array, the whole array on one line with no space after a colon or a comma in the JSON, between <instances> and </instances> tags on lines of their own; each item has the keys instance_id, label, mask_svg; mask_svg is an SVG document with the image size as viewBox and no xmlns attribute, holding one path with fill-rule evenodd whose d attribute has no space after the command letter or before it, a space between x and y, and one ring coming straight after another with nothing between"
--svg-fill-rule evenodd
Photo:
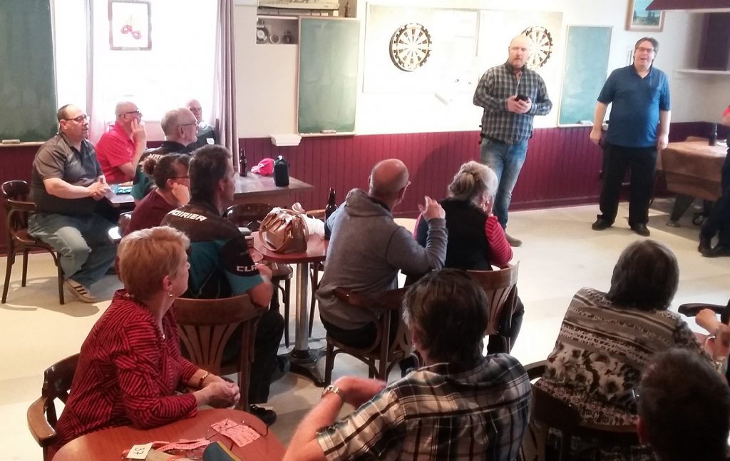
<instances>
[{"instance_id":1,"label":"plaid shirt on the dark-haired seated man in the foreground","mask_svg":"<svg viewBox=\"0 0 730 461\"><path fill-rule=\"evenodd\" d=\"M512 461L530 401L529 378L510 355L462 373L437 364L390 384L318 442L328 460Z\"/></svg>"}]
</instances>

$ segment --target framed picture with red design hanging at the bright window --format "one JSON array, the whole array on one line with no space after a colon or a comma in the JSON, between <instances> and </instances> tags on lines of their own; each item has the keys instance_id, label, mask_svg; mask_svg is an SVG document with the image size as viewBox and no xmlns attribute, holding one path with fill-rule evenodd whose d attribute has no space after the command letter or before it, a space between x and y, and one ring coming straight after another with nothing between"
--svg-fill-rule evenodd
<instances>
[{"instance_id":1,"label":"framed picture with red design hanging at the bright window","mask_svg":"<svg viewBox=\"0 0 730 461\"><path fill-rule=\"evenodd\" d=\"M152 50L149 0L109 0L110 50Z\"/></svg>"}]
</instances>

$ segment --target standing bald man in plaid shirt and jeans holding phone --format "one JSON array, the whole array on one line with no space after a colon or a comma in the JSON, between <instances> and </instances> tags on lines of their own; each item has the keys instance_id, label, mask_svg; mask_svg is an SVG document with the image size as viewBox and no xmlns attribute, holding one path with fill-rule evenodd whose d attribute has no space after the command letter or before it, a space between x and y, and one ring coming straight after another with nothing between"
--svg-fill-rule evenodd
<instances>
[{"instance_id":1,"label":"standing bald man in plaid shirt and jeans holding phone","mask_svg":"<svg viewBox=\"0 0 730 461\"><path fill-rule=\"evenodd\" d=\"M537 72L527 68L532 42L518 35L510 43L510 55L501 66L482 75L474 92L474 104L484 107L482 115L482 163L494 170L499 188L494 214L507 229L507 209L512 202L520 169L532 137L535 115L547 115L553 108L548 89ZM512 246L522 241L507 235Z\"/></svg>"}]
</instances>

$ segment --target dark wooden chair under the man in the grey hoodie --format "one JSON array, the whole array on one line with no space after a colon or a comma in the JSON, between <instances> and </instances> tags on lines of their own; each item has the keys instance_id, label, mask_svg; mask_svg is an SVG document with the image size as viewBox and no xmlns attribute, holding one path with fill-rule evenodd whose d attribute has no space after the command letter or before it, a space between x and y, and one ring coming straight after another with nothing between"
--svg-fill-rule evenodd
<instances>
[{"instance_id":1,"label":"dark wooden chair under the man in the grey hoodie","mask_svg":"<svg viewBox=\"0 0 730 461\"><path fill-rule=\"evenodd\" d=\"M372 321L377 327L377 334L373 343L366 348L354 348L347 346L340 341L327 335L327 352L325 361L325 386L332 381L332 368L334 367L334 357L337 354L349 354L368 366L368 376L370 378L388 380L388 374L396 363L407 357L415 358L415 365L418 367L418 356L411 340L410 330L403 321L401 305L403 297L407 289L393 289L381 294L379 297L367 297L361 294L350 292L349 290L336 288L334 295L353 309L361 309L363 312L372 316ZM378 318L371 309L380 310L380 318ZM398 326L396 334L391 342L391 321L393 321L393 311L398 313Z\"/></svg>"}]
</instances>

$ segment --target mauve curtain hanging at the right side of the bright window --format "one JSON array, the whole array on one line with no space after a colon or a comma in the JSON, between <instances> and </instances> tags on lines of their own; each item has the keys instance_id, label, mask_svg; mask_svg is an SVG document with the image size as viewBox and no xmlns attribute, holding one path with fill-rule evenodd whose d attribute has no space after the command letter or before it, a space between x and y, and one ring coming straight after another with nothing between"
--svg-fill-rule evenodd
<instances>
[{"instance_id":1,"label":"mauve curtain hanging at the right side of the bright window","mask_svg":"<svg viewBox=\"0 0 730 461\"><path fill-rule=\"evenodd\" d=\"M234 157L234 165L236 165L238 162L238 136L236 133L234 9L234 0L218 0L218 30L215 34L213 113L218 120L220 142L231 149Z\"/></svg>"}]
</instances>

